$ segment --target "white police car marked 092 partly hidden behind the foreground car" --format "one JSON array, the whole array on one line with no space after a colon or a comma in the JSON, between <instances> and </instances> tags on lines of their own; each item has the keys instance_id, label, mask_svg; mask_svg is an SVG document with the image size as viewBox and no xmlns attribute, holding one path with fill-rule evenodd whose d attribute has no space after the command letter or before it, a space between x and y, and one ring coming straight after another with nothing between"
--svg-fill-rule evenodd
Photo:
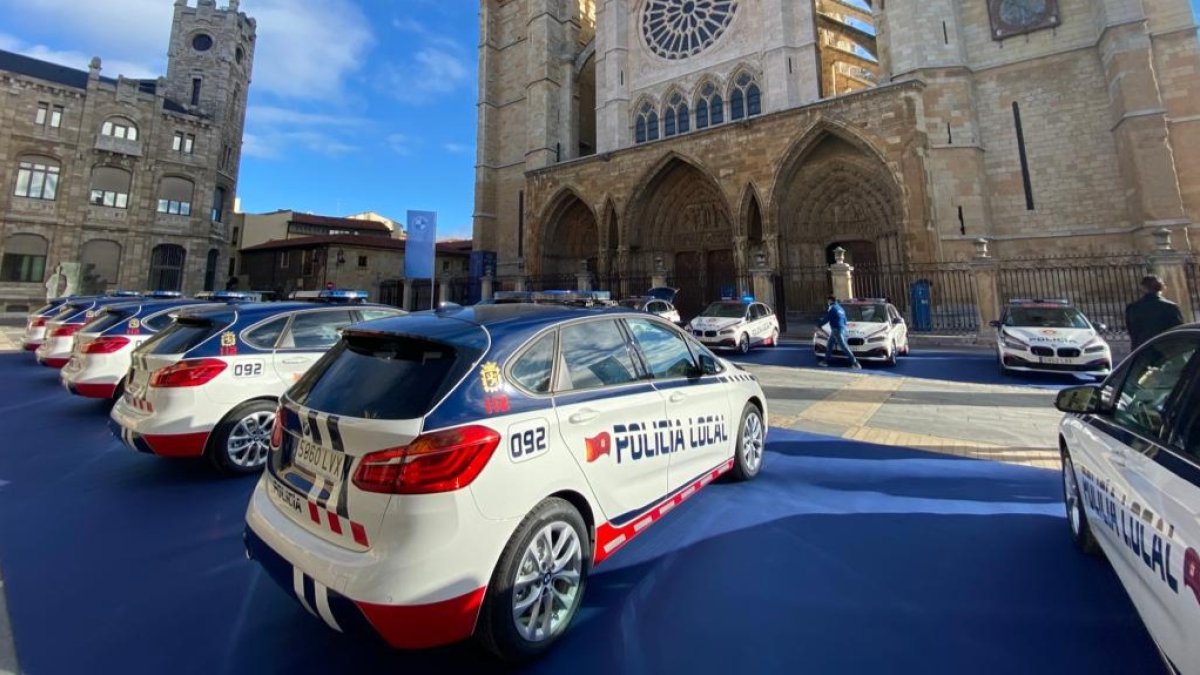
<instances>
[{"instance_id":1,"label":"white police car marked 092 partly hidden behind the foreground car","mask_svg":"<svg viewBox=\"0 0 1200 675\"><path fill-rule=\"evenodd\" d=\"M250 303L180 315L133 351L109 426L139 452L256 471L280 394L342 328L401 313L383 305Z\"/></svg>"}]
</instances>

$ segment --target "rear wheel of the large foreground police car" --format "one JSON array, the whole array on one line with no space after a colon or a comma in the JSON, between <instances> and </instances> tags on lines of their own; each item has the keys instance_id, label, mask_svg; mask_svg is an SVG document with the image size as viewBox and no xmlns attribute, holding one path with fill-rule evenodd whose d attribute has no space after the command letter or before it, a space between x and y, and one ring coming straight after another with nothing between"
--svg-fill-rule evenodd
<instances>
[{"instance_id":1,"label":"rear wheel of the large foreground police car","mask_svg":"<svg viewBox=\"0 0 1200 675\"><path fill-rule=\"evenodd\" d=\"M556 561L552 550L559 543L568 548ZM550 554L550 560L542 557L542 552ZM566 632L582 604L592 571L592 552L589 530L574 506L558 497L539 503L521 521L500 554L487 585L475 639L509 663L545 653ZM559 590L570 595L568 607L556 609ZM534 598L532 603L530 598ZM552 614L541 614L542 598L548 598ZM550 616L548 625L530 627L541 623L545 616ZM526 617L528 623L522 622Z\"/></svg>"}]
</instances>

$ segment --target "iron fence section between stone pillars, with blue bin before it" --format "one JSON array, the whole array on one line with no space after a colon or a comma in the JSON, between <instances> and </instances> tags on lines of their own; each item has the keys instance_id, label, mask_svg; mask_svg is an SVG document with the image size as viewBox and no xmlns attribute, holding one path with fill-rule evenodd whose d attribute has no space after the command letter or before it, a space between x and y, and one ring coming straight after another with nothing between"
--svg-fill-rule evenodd
<instances>
[{"instance_id":1,"label":"iron fence section between stone pillars, with blue bin before it","mask_svg":"<svg viewBox=\"0 0 1200 675\"><path fill-rule=\"evenodd\" d=\"M961 263L858 265L854 294L887 298L917 333L965 334L979 330L974 273Z\"/></svg>"}]
</instances>

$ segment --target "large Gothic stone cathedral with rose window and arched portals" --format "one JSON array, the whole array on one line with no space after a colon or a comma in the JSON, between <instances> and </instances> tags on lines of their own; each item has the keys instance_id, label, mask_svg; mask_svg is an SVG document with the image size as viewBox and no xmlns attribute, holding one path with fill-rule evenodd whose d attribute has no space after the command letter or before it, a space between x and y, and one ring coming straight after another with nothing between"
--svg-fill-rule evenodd
<instances>
[{"instance_id":1,"label":"large Gothic stone cathedral with rose window and arched portals","mask_svg":"<svg viewBox=\"0 0 1200 675\"><path fill-rule=\"evenodd\" d=\"M474 237L502 283L658 268L712 299L839 246L1196 246L1187 0L482 0L480 24Z\"/></svg>"}]
</instances>

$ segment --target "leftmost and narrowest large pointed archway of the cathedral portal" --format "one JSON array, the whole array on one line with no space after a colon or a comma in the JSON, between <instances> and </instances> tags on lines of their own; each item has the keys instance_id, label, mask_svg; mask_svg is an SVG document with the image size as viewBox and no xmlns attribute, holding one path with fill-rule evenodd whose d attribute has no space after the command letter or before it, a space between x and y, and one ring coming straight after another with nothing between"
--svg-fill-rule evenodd
<instances>
[{"instance_id":1,"label":"leftmost and narrowest large pointed archway of the cathedral portal","mask_svg":"<svg viewBox=\"0 0 1200 675\"><path fill-rule=\"evenodd\" d=\"M589 270L596 269L600 252L596 216L583 199L568 191L545 222L538 274L547 282L554 280L558 286L574 287L582 261L587 261Z\"/></svg>"}]
</instances>

